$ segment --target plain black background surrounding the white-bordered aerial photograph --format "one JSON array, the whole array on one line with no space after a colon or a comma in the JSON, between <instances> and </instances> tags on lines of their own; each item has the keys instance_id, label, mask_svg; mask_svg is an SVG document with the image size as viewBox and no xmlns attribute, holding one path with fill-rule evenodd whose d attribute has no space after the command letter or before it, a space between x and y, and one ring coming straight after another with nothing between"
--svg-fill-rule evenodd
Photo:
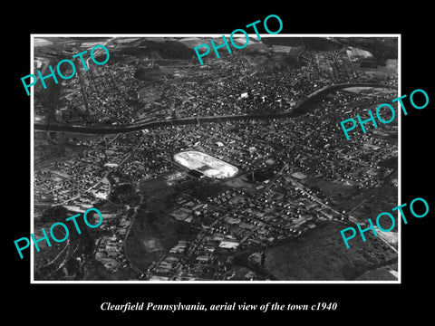
<instances>
[{"instance_id":1,"label":"plain black background surrounding the white-bordered aerial photograph","mask_svg":"<svg viewBox=\"0 0 435 326\"><path fill-rule=\"evenodd\" d=\"M242 10L221 3L169 3L157 9L146 3L99 4L91 10L87 4L62 8L34 5L20 14L16 25L6 26L4 45L4 215L2 237L6 312L14 321L65 322L135 320L147 324L150 317L160 321L235 322L234 312L102 312L102 302L225 303L266 302L314 304L337 302L335 312L237 312L242 318L269 321L282 319L285 324L319 321L380 322L402 316L429 315L433 294L430 292L433 260L432 234L435 206L430 192L430 167L433 145L431 111L434 64L430 6L412 4L385 5L348 2L343 5L276 5L251 3ZM164 7L164 8L163 8ZM53 10L57 8L58 10ZM247 10L249 8L249 10ZM30 73L30 34L227 34L237 28L278 14L284 24L281 34L401 34L401 93L415 89L427 91L429 105L423 110L410 107L401 117L401 203L423 197L430 203L424 218L410 217L402 225L401 284L30 284L28 255L20 260L14 240L28 236L30 230L30 100L21 77ZM272 28L271 28L272 29ZM262 27L260 33L262 33ZM249 33L252 33L249 31ZM406 102L405 102L406 103ZM12 128L9 128L12 127ZM7 180L7 181L6 181ZM368 216L369 217L369 216ZM55 317L61 317L57 319Z\"/></svg>"}]
</instances>

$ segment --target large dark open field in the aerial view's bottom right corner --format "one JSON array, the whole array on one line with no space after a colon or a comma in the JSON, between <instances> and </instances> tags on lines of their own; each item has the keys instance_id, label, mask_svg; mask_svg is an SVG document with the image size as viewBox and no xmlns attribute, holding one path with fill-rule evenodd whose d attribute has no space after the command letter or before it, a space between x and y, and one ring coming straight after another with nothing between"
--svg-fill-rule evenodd
<instances>
[{"instance_id":1,"label":"large dark open field in the aerial view's bottom right corner","mask_svg":"<svg viewBox=\"0 0 435 326\"><path fill-rule=\"evenodd\" d=\"M372 234L366 235L365 243L361 237L353 238L347 249L340 234L344 227L329 222L299 240L267 249L267 271L278 280L351 281L362 273L397 262L397 254Z\"/></svg>"}]
</instances>

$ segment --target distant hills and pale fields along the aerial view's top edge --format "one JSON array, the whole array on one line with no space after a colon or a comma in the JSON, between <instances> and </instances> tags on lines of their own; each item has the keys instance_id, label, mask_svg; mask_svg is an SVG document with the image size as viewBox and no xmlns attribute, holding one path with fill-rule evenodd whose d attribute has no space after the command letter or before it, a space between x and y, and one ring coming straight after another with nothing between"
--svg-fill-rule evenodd
<instances>
[{"instance_id":1,"label":"distant hills and pale fields along the aerial view's top edge","mask_svg":"<svg viewBox=\"0 0 435 326\"><path fill-rule=\"evenodd\" d=\"M235 34L233 41L239 46L246 43L243 34ZM80 44L82 41L109 41L105 37L59 37L36 40L38 51L47 53L54 52L54 49L62 43L63 49L74 46L74 42ZM108 46L111 49L111 60L124 60L124 55L151 58L151 60L196 60L195 47L200 44L208 44L210 53L207 58L216 57L210 40L216 44L222 44L222 37L192 36L192 37L120 37L111 38ZM228 43L229 37L227 37ZM45 43L44 43L45 42ZM53 43L53 44L50 44ZM45 46L43 46L45 45ZM301 49L307 51L337 51L348 46L360 48L373 54L372 58L364 59L360 62L364 66L385 65L388 59L397 59L398 44L395 37L268 37L262 35L261 42L256 36L249 37L247 46L243 49L235 49L231 46L232 54L246 55L250 61L260 63L260 65L285 64L286 66L298 66L304 64L301 57ZM207 51L206 47L200 47L199 53ZM227 56L227 49L220 48L219 54ZM161 62L160 62L161 64Z\"/></svg>"}]
</instances>

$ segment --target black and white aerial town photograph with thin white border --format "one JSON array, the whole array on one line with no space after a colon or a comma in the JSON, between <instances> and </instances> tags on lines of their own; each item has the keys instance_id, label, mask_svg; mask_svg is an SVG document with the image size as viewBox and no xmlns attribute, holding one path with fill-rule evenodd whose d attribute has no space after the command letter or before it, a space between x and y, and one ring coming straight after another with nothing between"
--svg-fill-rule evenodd
<instances>
[{"instance_id":1,"label":"black and white aerial town photograph with thin white border","mask_svg":"<svg viewBox=\"0 0 435 326\"><path fill-rule=\"evenodd\" d=\"M400 281L400 37L233 36L32 35L33 282Z\"/></svg>"}]
</instances>

